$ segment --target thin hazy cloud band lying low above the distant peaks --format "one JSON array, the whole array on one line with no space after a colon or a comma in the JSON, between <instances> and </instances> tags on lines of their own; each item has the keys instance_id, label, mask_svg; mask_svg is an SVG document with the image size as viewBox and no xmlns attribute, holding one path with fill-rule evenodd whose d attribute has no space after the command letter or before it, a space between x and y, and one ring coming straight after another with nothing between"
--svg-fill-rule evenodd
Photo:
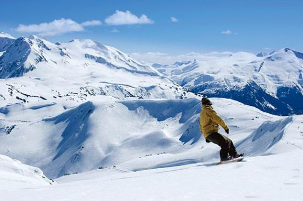
<instances>
[{"instance_id":1,"label":"thin hazy cloud band lying low above the distant peaks","mask_svg":"<svg viewBox=\"0 0 303 201\"><path fill-rule=\"evenodd\" d=\"M189 52L186 54L169 55L162 52L146 52L146 53L130 53L129 55L135 59L139 59L149 63L160 62L164 64L172 64L176 61L189 61L198 59L200 61L209 61L210 59L218 59L218 57L229 57L233 52L210 52L210 53L197 53Z\"/></svg>"}]
</instances>

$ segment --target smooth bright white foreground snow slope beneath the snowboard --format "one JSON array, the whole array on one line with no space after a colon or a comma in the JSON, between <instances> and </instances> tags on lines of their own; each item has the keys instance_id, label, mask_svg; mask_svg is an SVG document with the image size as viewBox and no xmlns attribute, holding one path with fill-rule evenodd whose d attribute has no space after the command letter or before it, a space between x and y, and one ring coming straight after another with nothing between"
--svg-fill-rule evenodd
<instances>
[{"instance_id":1,"label":"smooth bright white foreground snow slope beneath the snowboard","mask_svg":"<svg viewBox=\"0 0 303 201\"><path fill-rule=\"evenodd\" d=\"M3 200L289 200L303 196L298 154L254 157L247 162L122 172L95 170L65 176L47 188L11 188ZM281 163L287 161L287 163ZM220 189L220 192L218 192ZM13 193L12 193L13 192Z\"/></svg>"}]
</instances>

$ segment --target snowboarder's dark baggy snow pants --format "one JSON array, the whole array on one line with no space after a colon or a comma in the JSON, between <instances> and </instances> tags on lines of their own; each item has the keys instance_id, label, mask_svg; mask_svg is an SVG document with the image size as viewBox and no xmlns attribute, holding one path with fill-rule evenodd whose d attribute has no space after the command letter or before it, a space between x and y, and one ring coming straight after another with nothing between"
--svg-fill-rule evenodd
<instances>
[{"instance_id":1,"label":"snowboarder's dark baggy snow pants","mask_svg":"<svg viewBox=\"0 0 303 201\"><path fill-rule=\"evenodd\" d=\"M232 141L226 136L221 135L219 132L212 132L206 140L215 143L221 147L220 158L226 159L228 156L236 156L237 151Z\"/></svg>"}]
</instances>

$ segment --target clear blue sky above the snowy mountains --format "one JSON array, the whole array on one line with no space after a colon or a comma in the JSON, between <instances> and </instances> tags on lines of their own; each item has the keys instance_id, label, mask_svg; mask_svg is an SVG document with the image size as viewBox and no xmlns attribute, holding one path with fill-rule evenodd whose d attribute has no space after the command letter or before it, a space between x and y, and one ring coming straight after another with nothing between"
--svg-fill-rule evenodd
<instances>
[{"instance_id":1,"label":"clear blue sky above the snowy mountains","mask_svg":"<svg viewBox=\"0 0 303 201\"><path fill-rule=\"evenodd\" d=\"M101 25L82 26L74 32L63 30L43 37L52 42L90 38L127 53L257 53L283 47L303 51L303 1L27 0L2 1L0 10L0 31L15 37L32 34L28 30L31 27L23 27L18 32L20 24L39 25L62 18L71 19L79 26L85 21L100 21ZM138 22L106 23L117 10L122 14L129 11ZM142 14L147 21L140 18ZM171 17L177 22L172 22Z\"/></svg>"}]
</instances>

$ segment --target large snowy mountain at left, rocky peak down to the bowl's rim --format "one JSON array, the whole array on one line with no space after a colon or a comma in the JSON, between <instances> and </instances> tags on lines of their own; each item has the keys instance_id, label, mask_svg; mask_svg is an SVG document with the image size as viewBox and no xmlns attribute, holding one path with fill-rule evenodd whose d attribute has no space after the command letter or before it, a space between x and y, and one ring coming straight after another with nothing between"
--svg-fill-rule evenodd
<instances>
[{"instance_id":1,"label":"large snowy mountain at left, rocky peak down to the bowl's rim","mask_svg":"<svg viewBox=\"0 0 303 201\"><path fill-rule=\"evenodd\" d=\"M36 36L18 38L0 57L0 78L15 77L20 78L0 80L3 105L32 96L82 101L96 95L175 99L187 93L153 67L92 40L53 44Z\"/></svg>"}]
</instances>

